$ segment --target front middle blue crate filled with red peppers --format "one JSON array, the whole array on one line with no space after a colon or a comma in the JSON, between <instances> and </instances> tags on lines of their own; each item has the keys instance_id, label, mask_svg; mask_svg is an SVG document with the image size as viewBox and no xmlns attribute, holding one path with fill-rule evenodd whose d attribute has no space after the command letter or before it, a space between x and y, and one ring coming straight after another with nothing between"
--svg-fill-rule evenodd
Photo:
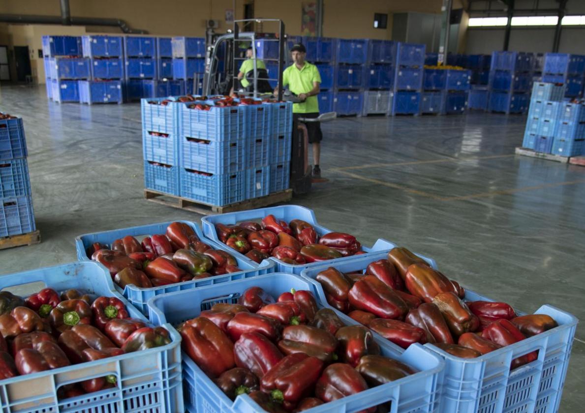
<instances>
[{"instance_id":1,"label":"front middle blue crate filled with red peppers","mask_svg":"<svg viewBox=\"0 0 585 413\"><path fill-rule=\"evenodd\" d=\"M313 283L276 273L149 301L183 338L187 411L436 411L440 357L374 338Z\"/></svg>"}]
</instances>

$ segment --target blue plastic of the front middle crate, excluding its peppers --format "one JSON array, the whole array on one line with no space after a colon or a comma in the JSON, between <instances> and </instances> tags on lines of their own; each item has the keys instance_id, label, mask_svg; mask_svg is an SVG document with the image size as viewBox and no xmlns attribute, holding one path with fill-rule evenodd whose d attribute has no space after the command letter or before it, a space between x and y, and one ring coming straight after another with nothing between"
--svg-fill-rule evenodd
<instances>
[{"instance_id":1,"label":"blue plastic of the front middle crate, excluding its peppers","mask_svg":"<svg viewBox=\"0 0 585 413\"><path fill-rule=\"evenodd\" d=\"M212 287L197 288L193 291L174 292L161 295L149 301L150 316L155 324L180 322L197 317L201 311L211 308L217 302L235 303L246 288L257 286L268 294L278 297L282 292L310 290L314 281L293 274L267 274L233 283L222 283ZM319 307L325 304L318 303ZM335 310L333 310L335 311ZM337 313L346 325L356 325L356 321L345 314ZM311 409L315 413L357 411L390 402L391 411L433 412L438 408L437 382L443 369L443 362L424 346L415 344L402 351L389 345L387 340L376 337L381 355L391 357L414 367L417 373L411 376L370 388L360 393L343 397ZM247 394L231 401L192 359L183 353L184 384L187 410L219 412L261 412L263 411Z\"/></svg>"}]
</instances>

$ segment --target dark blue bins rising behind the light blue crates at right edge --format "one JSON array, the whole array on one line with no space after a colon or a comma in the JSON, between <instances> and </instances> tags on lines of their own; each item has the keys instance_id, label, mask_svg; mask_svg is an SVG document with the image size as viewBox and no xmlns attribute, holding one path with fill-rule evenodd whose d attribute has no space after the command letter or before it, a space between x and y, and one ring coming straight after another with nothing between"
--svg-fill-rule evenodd
<instances>
[{"instance_id":1,"label":"dark blue bins rising behind the light blue crates at right edge","mask_svg":"<svg viewBox=\"0 0 585 413\"><path fill-rule=\"evenodd\" d=\"M546 53L542 81L564 83L566 98L583 97L585 56L568 53Z\"/></svg>"}]
</instances>

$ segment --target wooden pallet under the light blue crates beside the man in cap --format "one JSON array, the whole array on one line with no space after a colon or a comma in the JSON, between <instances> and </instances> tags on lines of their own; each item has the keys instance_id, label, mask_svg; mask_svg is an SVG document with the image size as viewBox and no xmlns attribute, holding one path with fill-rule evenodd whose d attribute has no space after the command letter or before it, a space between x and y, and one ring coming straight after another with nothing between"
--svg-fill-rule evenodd
<instances>
[{"instance_id":1,"label":"wooden pallet under the light blue crates beside the man in cap","mask_svg":"<svg viewBox=\"0 0 585 413\"><path fill-rule=\"evenodd\" d=\"M192 199L176 197L174 195L168 195L153 190L144 190L144 198L156 202L157 204L166 205L167 207L179 208L184 211L196 212L197 214L202 215L210 215L244 211L245 209L263 208L268 205L277 204L278 202L288 202L292 199L292 190L276 192L267 197L247 199L246 201L236 202L235 204L223 205L223 207L193 201Z\"/></svg>"}]
</instances>

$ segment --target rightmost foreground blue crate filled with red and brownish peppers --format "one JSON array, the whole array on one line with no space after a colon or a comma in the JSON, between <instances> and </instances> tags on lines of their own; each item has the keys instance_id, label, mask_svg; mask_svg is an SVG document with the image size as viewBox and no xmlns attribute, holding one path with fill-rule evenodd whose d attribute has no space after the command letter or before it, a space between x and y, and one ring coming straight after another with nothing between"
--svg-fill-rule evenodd
<instances>
[{"instance_id":1,"label":"rightmost foreground blue crate filled with red and brownish peppers","mask_svg":"<svg viewBox=\"0 0 585 413\"><path fill-rule=\"evenodd\" d=\"M556 412L577 319L464 290L405 248L308 269L315 293L376 336L445 359L442 412Z\"/></svg>"}]
</instances>

